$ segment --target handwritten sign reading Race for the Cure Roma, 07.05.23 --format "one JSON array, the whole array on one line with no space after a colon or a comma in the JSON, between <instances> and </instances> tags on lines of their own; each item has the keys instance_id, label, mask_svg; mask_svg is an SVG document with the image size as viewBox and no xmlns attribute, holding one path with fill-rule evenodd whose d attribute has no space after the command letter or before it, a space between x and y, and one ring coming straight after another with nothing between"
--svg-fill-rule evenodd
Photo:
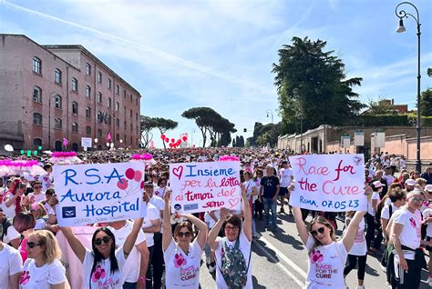
<instances>
[{"instance_id":1,"label":"handwritten sign reading Race for the Cure Roma, 07.05.23","mask_svg":"<svg viewBox=\"0 0 432 289\"><path fill-rule=\"evenodd\" d=\"M324 212L365 211L363 154L290 156L295 190L290 204Z\"/></svg>"}]
</instances>

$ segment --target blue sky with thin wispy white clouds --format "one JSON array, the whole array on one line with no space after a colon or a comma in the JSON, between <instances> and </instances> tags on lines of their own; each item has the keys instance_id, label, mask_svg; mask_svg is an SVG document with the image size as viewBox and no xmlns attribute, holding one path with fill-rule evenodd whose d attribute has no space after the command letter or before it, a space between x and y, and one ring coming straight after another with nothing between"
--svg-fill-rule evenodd
<instances>
[{"instance_id":1,"label":"blue sky with thin wispy white clouds","mask_svg":"<svg viewBox=\"0 0 432 289\"><path fill-rule=\"evenodd\" d=\"M361 101L417 102L417 23L396 34L393 0L0 0L0 33L41 45L83 45L135 87L141 115L175 120L166 133L202 145L191 107L208 106L244 138L255 122L277 123L272 73L278 49L293 36L327 42L346 77L363 77ZM421 91L432 87L432 1L417 0L421 23ZM414 8L403 5L416 15ZM243 133L246 128L247 132ZM152 131L156 146L159 131Z\"/></svg>"}]
</instances>

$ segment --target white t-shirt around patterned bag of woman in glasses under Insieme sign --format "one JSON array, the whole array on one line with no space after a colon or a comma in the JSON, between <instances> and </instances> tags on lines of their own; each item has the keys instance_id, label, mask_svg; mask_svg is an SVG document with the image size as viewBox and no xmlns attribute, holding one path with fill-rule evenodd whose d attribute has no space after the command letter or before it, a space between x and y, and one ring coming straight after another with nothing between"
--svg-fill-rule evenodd
<instances>
[{"instance_id":1,"label":"white t-shirt around patterned bag of woman in glasses under Insieme sign","mask_svg":"<svg viewBox=\"0 0 432 289\"><path fill-rule=\"evenodd\" d=\"M222 262L221 262L221 253L222 253L222 247L223 247L223 242L227 242L228 247L233 248L235 241L234 242L230 242L226 237L218 237L217 238L218 241L218 248L216 249L216 251L214 252L215 255L215 259L216 259L216 288L217 289L229 289L227 284L225 283L225 280L223 279L223 275L221 274L221 266L222 266ZM251 242L248 240L248 238L246 237L246 235L243 233L243 228L242 231L239 235L239 250L242 251L244 260L246 260L246 265L248 266L248 281L246 283L246 286L244 286L243 288L247 288L247 289L252 289L253 288L253 284L252 284L252 264L249 260L251 256Z\"/></svg>"}]
</instances>

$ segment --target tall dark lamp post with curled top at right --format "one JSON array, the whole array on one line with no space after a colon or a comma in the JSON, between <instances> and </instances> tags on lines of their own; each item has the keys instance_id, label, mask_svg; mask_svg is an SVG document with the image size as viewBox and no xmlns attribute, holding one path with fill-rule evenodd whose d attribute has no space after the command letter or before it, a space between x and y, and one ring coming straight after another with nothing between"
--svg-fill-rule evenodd
<instances>
[{"instance_id":1,"label":"tall dark lamp post with curled top at right","mask_svg":"<svg viewBox=\"0 0 432 289\"><path fill-rule=\"evenodd\" d=\"M406 13L405 10L399 9L400 5L411 5L416 10L416 15L412 15L410 13ZM399 9L399 10L398 10ZM409 2L401 2L396 6L395 14L399 18L399 26L397 27L396 32L397 33L403 33L406 31L406 28L404 26L404 19L408 18L408 16L411 16L414 20L416 20L417 23L417 124L416 124L416 131L417 131L417 161L416 161L416 170L418 172L421 172L421 157L420 157L420 16L418 15L418 10L415 5Z\"/></svg>"}]
</instances>

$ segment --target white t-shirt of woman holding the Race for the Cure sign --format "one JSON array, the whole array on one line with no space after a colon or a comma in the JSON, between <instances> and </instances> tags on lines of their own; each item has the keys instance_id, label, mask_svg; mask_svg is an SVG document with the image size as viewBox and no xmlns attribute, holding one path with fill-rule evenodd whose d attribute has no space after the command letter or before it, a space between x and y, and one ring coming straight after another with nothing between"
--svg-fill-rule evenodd
<instances>
[{"instance_id":1,"label":"white t-shirt of woman holding the Race for the Cure sign","mask_svg":"<svg viewBox=\"0 0 432 289\"><path fill-rule=\"evenodd\" d=\"M309 235L306 250L309 251L313 245L314 237ZM344 268L347 255L342 240L317 246L309 256L306 288L345 288Z\"/></svg>"}]
</instances>

